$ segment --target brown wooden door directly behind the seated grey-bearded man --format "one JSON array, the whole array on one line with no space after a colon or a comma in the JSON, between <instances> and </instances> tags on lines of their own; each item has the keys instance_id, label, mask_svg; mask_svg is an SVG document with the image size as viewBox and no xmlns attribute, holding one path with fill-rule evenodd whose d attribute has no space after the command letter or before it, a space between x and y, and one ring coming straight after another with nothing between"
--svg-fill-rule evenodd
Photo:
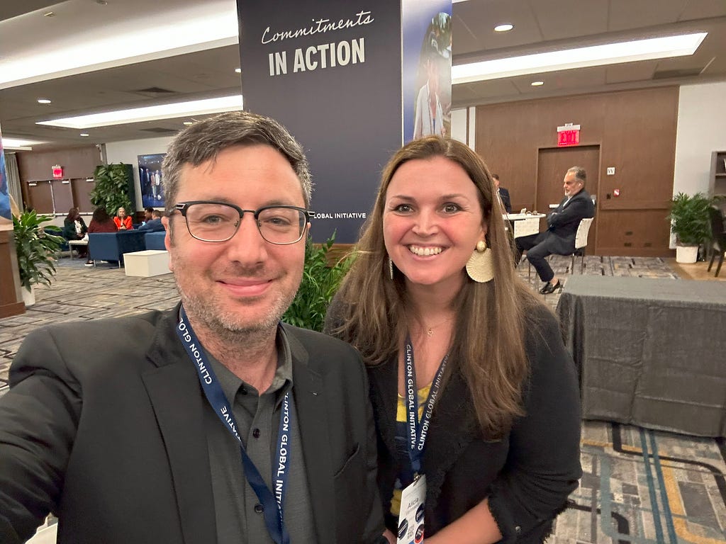
<instances>
[{"instance_id":1,"label":"brown wooden door directly behind the seated grey-bearded man","mask_svg":"<svg viewBox=\"0 0 726 544\"><path fill-rule=\"evenodd\" d=\"M559 204L565 196L563 179L568 168L579 166L587 172L585 190L597 198L600 173L600 146L555 147L539 149L537 157L537 199L535 209L550 213L550 204ZM542 220L544 221L544 220ZM542 226L544 228L544 226ZM587 253L597 254L597 201L595 202L595 221L587 237Z\"/></svg>"}]
</instances>

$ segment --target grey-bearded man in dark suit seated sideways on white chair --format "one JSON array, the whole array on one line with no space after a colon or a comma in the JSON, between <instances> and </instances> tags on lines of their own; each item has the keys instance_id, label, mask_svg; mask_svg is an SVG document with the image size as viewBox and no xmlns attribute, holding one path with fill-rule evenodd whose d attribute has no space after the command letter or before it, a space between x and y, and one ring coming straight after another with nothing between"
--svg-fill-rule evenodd
<instances>
[{"instance_id":1,"label":"grey-bearded man in dark suit seated sideways on white chair","mask_svg":"<svg viewBox=\"0 0 726 544\"><path fill-rule=\"evenodd\" d=\"M595 215L595 205L590 194L585 191L587 173L584 168L573 166L563 181L565 197L557 210L547 215L547 230L531 236L517 238L517 249L527 250L527 258L537 270L539 279L545 282L539 290L542 294L555 292L562 288L562 282L555 277L548 255L570 255L575 250L575 234L580 220Z\"/></svg>"}]
</instances>

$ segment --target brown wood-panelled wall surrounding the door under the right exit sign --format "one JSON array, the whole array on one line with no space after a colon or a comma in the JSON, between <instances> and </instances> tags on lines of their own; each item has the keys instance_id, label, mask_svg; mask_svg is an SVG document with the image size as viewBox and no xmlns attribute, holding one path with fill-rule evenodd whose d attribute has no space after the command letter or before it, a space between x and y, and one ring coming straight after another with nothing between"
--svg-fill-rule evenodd
<instances>
[{"instance_id":1,"label":"brown wood-panelled wall surrounding the door under the right exit sign","mask_svg":"<svg viewBox=\"0 0 726 544\"><path fill-rule=\"evenodd\" d=\"M513 209L531 210L539 149L557 146L559 125L581 125L580 145L600 147L595 252L669 256L665 217L673 191L677 115L677 87L479 106L476 151L510 189ZM614 176L606 175L610 166ZM614 197L613 189L621 195ZM626 231L632 234L625 236Z\"/></svg>"}]
</instances>

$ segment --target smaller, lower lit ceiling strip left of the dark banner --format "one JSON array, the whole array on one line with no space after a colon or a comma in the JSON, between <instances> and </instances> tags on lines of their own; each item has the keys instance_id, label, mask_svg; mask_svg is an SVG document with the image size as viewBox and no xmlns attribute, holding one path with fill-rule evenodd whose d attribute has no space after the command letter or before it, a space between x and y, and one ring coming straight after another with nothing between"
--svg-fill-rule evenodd
<instances>
[{"instance_id":1,"label":"smaller, lower lit ceiling strip left of the dark banner","mask_svg":"<svg viewBox=\"0 0 726 544\"><path fill-rule=\"evenodd\" d=\"M189 115L205 115L209 113L230 112L242 110L242 95L222 96L191 102L176 102L175 104L161 104L159 106L136 107L131 110L118 110L116 112L91 113L63 119L38 121L36 125L61 126L65 128L92 128L97 126L126 125L127 123L141 123L158 119L174 119Z\"/></svg>"}]
</instances>

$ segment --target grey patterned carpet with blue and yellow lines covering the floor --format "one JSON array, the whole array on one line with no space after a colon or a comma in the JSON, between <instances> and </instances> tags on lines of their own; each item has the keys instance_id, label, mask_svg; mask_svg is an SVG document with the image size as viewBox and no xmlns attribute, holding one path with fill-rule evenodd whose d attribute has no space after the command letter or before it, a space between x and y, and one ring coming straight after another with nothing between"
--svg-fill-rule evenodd
<instances>
[{"instance_id":1,"label":"grey patterned carpet with blue and yellow lines covering the floor","mask_svg":"<svg viewBox=\"0 0 726 544\"><path fill-rule=\"evenodd\" d=\"M566 281L568 257L551 257ZM518 273L524 281L527 265ZM575 273L580 273L576 260ZM584 273L679 279L666 260L585 257ZM529 284L542 287L534 270ZM129 278L110 265L86 268L62 259L57 281L38 289L23 316L0 320L0 395L23 338L45 323L125 316L166 309L179 299L171 274ZM544 297L554 309L559 294ZM580 487L555 522L550 544L726 543L726 445L635 426L584 421Z\"/></svg>"}]
</instances>

